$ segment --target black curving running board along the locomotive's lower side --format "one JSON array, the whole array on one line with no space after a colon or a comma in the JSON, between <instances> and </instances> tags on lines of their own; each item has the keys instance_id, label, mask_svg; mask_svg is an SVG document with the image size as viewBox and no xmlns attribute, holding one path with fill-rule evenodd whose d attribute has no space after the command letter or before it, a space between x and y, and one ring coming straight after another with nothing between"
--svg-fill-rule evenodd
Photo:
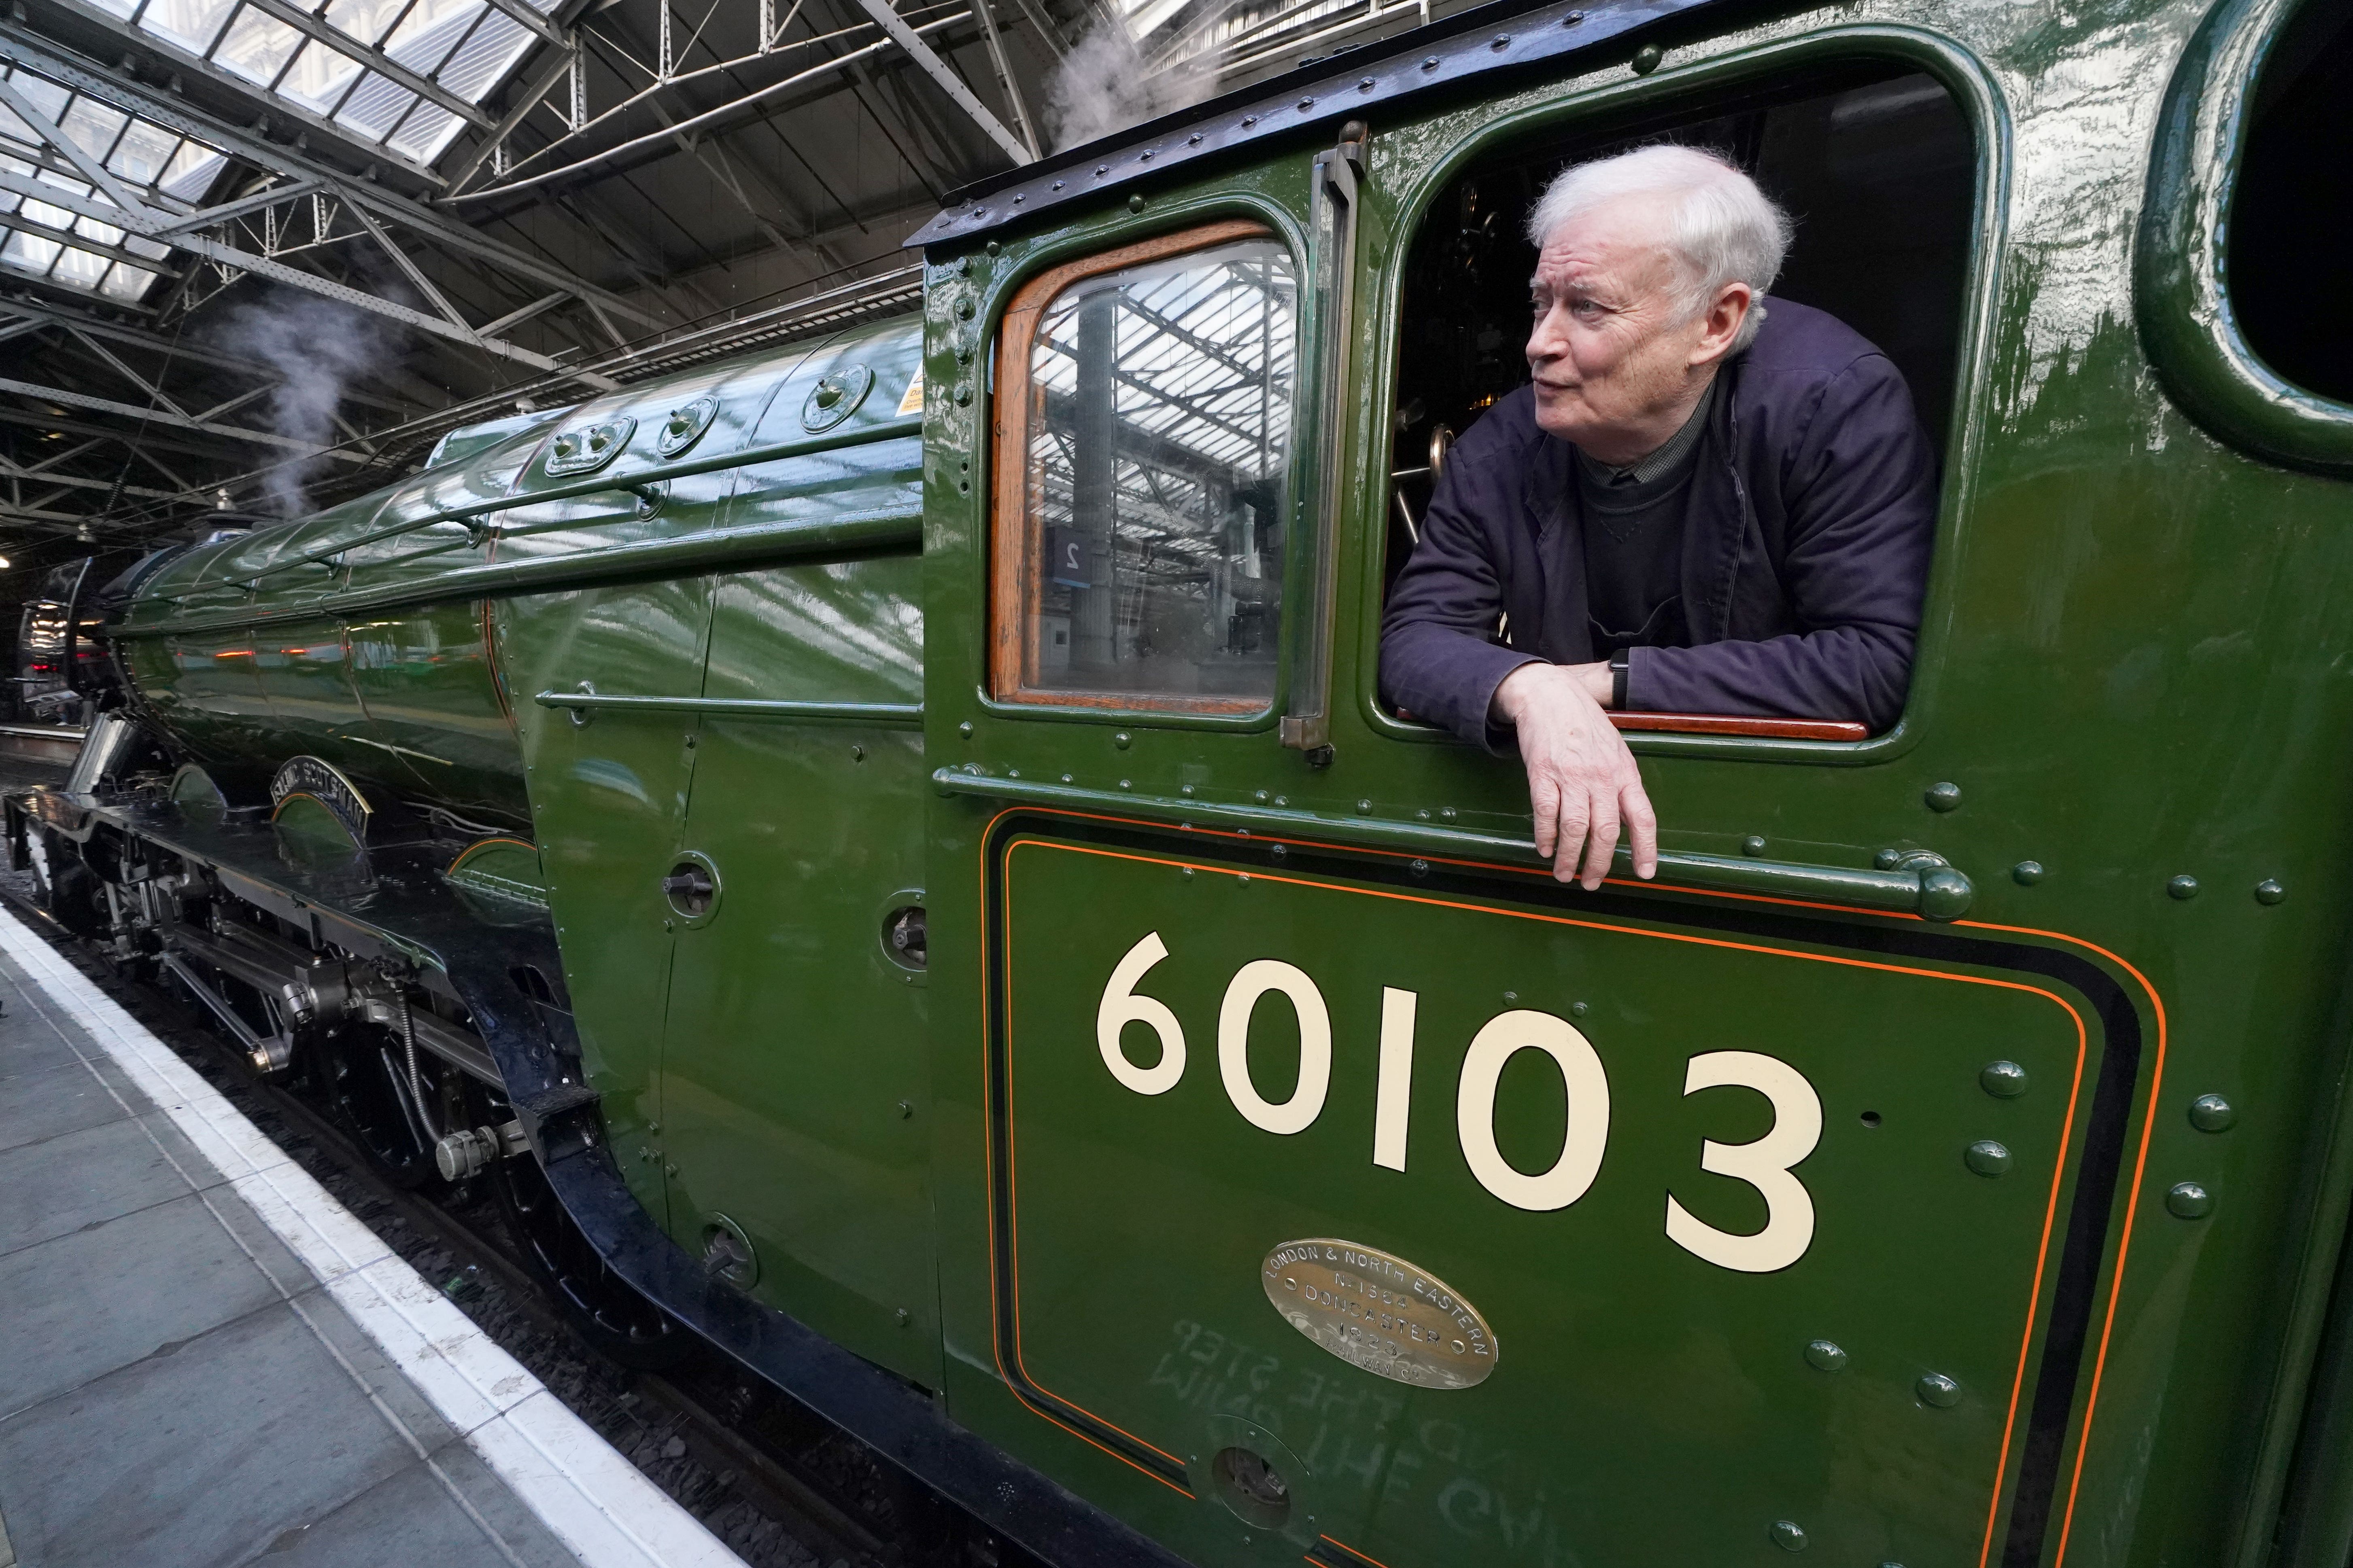
<instances>
[{"instance_id":1,"label":"black curving running board along the locomotive's lower side","mask_svg":"<svg viewBox=\"0 0 2353 1568\"><path fill-rule=\"evenodd\" d=\"M515 980L536 966L562 973L555 929L544 910L501 900L513 917L489 919L438 877L440 858L388 846L369 851L369 872L306 872L278 856L266 825L200 825L176 806L106 802L33 788L12 792L12 846L40 820L87 844L111 827L212 870L228 891L322 940L365 954L407 954L438 973L473 1013L482 1044L506 1079L508 1100L544 1152L548 1185L607 1265L664 1312L734 1356L812 1413L873 1448L998 1535L1059 1568L1184 1568L1184 1559L1127 1528L1080 1495L955 1425L932 1396L826 1340L807 1324L762 1307L711 1279L621 1180L602 1140L595 1093L579 1081L572 1016L544 1006ZM379 877L374 872L393 872ZM358 893L369 914L353 914Z\"/></svg>"}]
</instances>

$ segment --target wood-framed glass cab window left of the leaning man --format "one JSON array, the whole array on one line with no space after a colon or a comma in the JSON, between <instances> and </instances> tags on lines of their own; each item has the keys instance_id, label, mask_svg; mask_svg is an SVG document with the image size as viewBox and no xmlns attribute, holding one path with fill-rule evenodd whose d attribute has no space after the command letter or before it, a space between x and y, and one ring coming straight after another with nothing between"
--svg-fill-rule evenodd
<instances>
[{"instance_id":1,"label":"wood-framed glass cab window left of the leaning man","mask_svg":"<svg viewBox=\"0 0 2353 1568\"><path fill-rule=\"evenodd\" d=\"M1297 336L1297 268L1257 223L1021 289L998 357L1000 701L1273 703Z\"/></svg>"}]
</instances>

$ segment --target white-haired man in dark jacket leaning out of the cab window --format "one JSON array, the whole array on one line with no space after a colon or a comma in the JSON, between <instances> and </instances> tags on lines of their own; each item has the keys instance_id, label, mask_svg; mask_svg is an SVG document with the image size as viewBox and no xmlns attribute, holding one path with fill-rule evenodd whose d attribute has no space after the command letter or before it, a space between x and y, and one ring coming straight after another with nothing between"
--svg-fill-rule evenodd
<instances>
[{"instance_id":1,"label":"white-haired man in dark jacket leaning out of the cab window","mask_svg":"<svg viewBox=\"0 0 2353 1568\"><path fill-rule=\"evenodd\" d=\"M1600 886L1657 820L1605 710L1904 710L1937 458L1904 376L1767 301L1788 219L1680 146L1577 165L1537 202L1532 386L1447 458L1381 628L1381 691L1501 752L1537 851Z\"/></svg>"}]
</instances>

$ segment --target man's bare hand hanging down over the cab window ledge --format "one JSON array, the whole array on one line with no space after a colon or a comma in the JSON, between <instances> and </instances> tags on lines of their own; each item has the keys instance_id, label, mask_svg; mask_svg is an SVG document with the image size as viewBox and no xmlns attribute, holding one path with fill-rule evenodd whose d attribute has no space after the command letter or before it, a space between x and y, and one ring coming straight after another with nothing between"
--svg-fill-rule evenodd
<instances>
[{"instance_id":1,"label":"man's bare hand hanging down over the cab window ledge","mask_svg":"<svg viewBox=\"0 0 2353 1568\"><path fill-rule=\"evenodd\" d=\"M1642 771L1602 703L1609 665L1520 665L1494 689L1494 710L1520 731L1527 804L1537 811L1537 853L1553 877L1579 877L1591 893L1609 875L1619 825L1633 839L1633 870L1659 870L1659 818L1642 792Z\"/></svg>"}]
</instances>

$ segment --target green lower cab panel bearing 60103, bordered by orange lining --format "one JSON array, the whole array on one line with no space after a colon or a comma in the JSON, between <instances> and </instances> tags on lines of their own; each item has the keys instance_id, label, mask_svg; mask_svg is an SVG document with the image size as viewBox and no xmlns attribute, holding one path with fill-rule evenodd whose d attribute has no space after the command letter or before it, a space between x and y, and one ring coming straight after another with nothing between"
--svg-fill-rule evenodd
<instances>
[{"instance_id":1,"label":"green lower cab panel bearing 60103, bordered by orange lining","mask_svg":"<svg viewBox=\"0 0 2353 1568\"><path fill-rule=\"evenodd\" d=\"M1268 1533L1214 1502L1240 1418L1297 1460L1294 1549L1715 1563L1788 1519L1835 1561L1977 1559L2021 1462L2097 997L1833 922L1562 910L1398 858L1348 877L1299 870L1311 846L1071 825L991 851L998 1356L1040 1415L1205 1497L1181 1549ZM1249 1004L1271 964L1304 1004ZM1176 1056L1148 1018L1118 1034L1127 994L1174 1013ZM1586 1063L1574 1091L1546 1032ZM1998 1058L2024 1093L1986 1093ZM1769 1135L1791 1147L1741 1154ZM1294 1333L1261 1260L1315 1237L1452 1286L1492 1373L1400 1385ZM1706 1502L1661 1507L1668 1486Z\"/></svg>"}]
</instances>

